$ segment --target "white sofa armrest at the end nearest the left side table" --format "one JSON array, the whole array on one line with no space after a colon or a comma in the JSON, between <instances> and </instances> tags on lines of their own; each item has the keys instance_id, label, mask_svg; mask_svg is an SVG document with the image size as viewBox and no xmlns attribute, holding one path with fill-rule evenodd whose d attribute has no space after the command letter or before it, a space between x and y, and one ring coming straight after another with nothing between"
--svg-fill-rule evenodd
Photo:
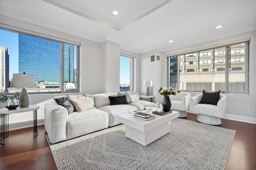
<instances>
[{"instance_id":1,"label":"white sofa armrest at the end nearest the left side table","mask_svg":"<svg viewBox=\"0 0 256 170\"><path fill-rule=\"evenodd\" d=\"M68 110L56 102L44 105L44 127L51 143L66 140Z\"/></svg>"}]
</instances>

